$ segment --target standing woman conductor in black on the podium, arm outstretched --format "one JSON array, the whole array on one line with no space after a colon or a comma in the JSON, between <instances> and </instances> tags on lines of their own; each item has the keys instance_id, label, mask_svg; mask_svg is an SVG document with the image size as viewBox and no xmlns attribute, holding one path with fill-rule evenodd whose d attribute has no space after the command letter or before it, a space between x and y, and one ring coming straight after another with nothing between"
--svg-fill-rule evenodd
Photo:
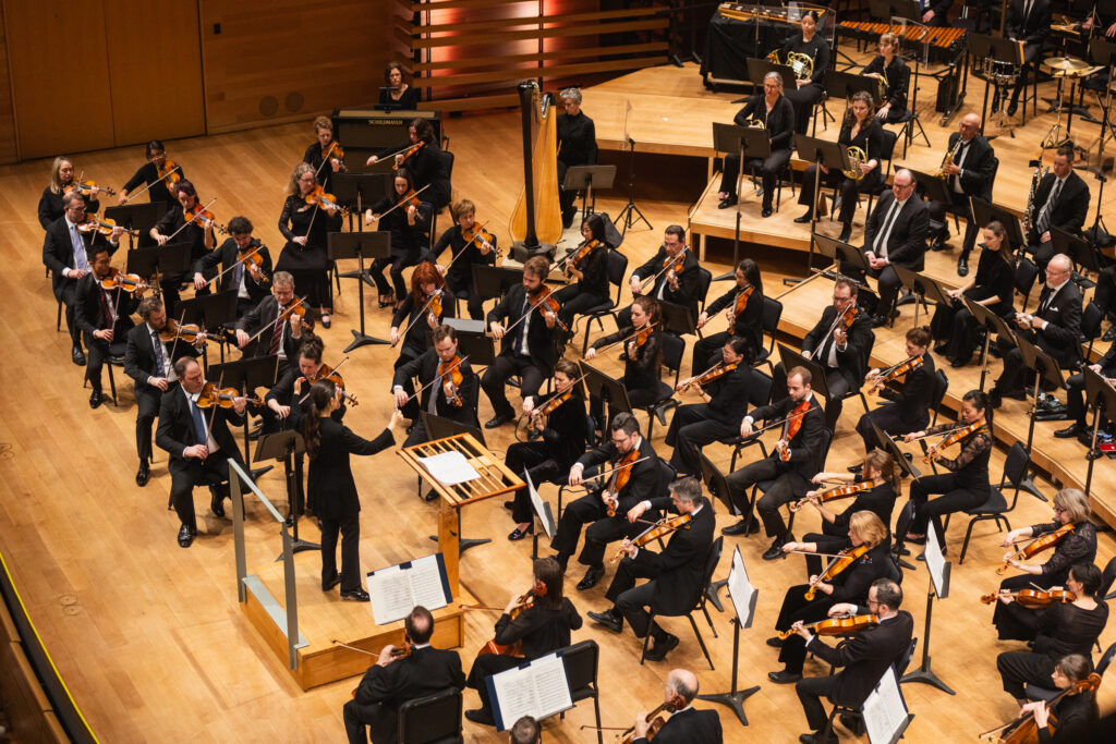
<instances>
[{"instance_id":1,"label":"standing woman conductor in black on the podium, arm outstretched","mask_svg":"<svg viewBox=\"0 0 1116 744\"><path fill-rule=\"evenodd\" d=\"M321 590L341 584L341 599L368 601L360 588L360 497L349 455L374 455L395 444L403 414L392 414L387 428L373 441L363 439L330 415L341 405L340 389L328 379L310 388L310 408L302 427L310 471L307 499L321 524ZM341 535L341 572L337 573L337 533Z\"/></svg>"}]
</instances>

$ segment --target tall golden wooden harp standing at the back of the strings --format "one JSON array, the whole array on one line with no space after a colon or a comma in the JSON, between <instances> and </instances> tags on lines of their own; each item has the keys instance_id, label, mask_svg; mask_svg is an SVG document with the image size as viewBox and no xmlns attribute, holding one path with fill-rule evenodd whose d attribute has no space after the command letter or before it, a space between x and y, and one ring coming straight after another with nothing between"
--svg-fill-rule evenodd
<instances>
[{"instance_id":1,"label":"tall golden wooden harp standing at the back of the strings","mask_svg":"<svg viewBox=\"0 0 1116 744\"><path fill-rule=\"evenodd\" d=\"M549 250L561 238L558 204L558 132L554 95L533 80L519 84L523 119L523 191L511 213L511 239L528 253Z\"/></svg>"}]
</instances>

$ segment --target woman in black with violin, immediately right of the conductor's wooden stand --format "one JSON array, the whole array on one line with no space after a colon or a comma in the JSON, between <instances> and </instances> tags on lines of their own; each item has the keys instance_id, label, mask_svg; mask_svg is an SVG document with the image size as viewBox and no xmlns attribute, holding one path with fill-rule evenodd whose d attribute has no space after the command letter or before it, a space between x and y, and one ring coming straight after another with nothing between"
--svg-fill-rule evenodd
<instances>
[{"instance_id":1,"label":"woman in black with violin, immediately right of the conductor's wooden stand","mask_svg":"<svg viewBox=\"0 0 1116 744\"><path fill-rule=\"evenodd\" d=\"M581 384L577 381L580 369L569 359L555 363L554 395L535 409L528 419L528 429L538 438L516 442L508 446L504 464L513 473L527 472L531 482L560 482L577 458L585 453L585 398ZM552 410L541 414L545 407L557 404ZM516 492L511 506L511 519L516 521L509 540L522 540L535 532L531 496L527 489Z\"/></svg>"}]
</instances>

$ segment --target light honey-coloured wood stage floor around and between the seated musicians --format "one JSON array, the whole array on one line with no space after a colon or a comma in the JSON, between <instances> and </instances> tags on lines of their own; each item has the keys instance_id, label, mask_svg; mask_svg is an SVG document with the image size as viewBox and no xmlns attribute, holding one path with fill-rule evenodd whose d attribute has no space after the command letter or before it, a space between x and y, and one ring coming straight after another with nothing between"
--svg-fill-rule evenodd
<instances>
[{"instance_id":1,"label":"light honey-coloured wood stage floor around and between the seated musicians","mask_svg":"<svg viewBox=\"0 0 1116 744\"><path fill-rule=\"evenodd\" d=\"M667 71L673 74L670 68ZM693 85L699 85L696 75ZM728 94L721 98L731 99ZM972 95L970 100L979 102L979 97ZM587 113L594 115L593 110ZM947 131L939 129L933 120L927 117L926 128L937 149L920 147L916 152L936 163ZM1049 126L1041 122L1027 128L1026 137L1031 143ZM506 224L521 172L518 113L451 119L448 132L458 156L455 195L474 201L481 220L493 218L494 224ZM275 220L282 189L310 135L308 125L290 125L169 143L169 149L199 185L203 199L219 197L213 205L219 221L248 215L256 222L258 234L278 249L282 241ZM1019 152L1030 153L1032 146L1024 146L1023 141L1024 134L1017 133ZM500 154L494 156L494 152ZM86 177L113 186L122 184L140 163L136 148L87 153L75 161ZM654 175L641 177L636 200L655 229L638 228L628 233L624 250L633 261L643 260L657 248L663 226L684 220L686 206L705 183L704 163L696 168L686 163L665 163L677 173L695 175L690 178L664 177L660 171L663 163L655 158L639 161L641 173L654 171ZM121 406L88 409L87 394L80 387L81 371L68 359L65 334L54 329L55 302L39 260L42 233L35 220L35 206L48 171L49 161L0 168L0 206L9 215L4 220L9 282L0 298L7 320L0 325L0 345L9 358L0 371L6 390L0 398L0 444L10 445L10 456L0 458L0 550L12 567L16 583L55 664L103 741L340 740L341 705L349 697L352 682L302 693L285 666L271 657L237 606L230 522L208 514L203 491L196 499L199 514L204 514L200 516L203 534L193 548L181 550L174 541L177 522L165 511L170 486L165 457L160 455L155 476L145 489L135 486L135 408L131 386L121 379L123 375L117 376ZM1029 178L1026 162L1020 158L1009 160L1001 174L1006 185L998 185L998 199L1001 193L1018 193ZM692 181L698 186L689 190ZM598 200L598 209L615 215L625 202L626 194L606 194ZM504 230L497 232L501 240L506 239ZM727 269L723 245L721 249L708 257L714 273ZM786 260L773 251L760 258L766 280L773 288L780 283L779 267L786 267ZM325 331L327 360L339 359L339 350L349 339L348 329L358 323L357 310L355 287L349 282L338 299L335 325ZM372 303L367 317L371 332L383 336L387 311ZM349 388L359 394L362 403L349 414L347 424L364 435L378 432L392 408L387 394L392 361L385 347L373 347L356 351L347 365ZM618 367L615 360L606 366L614 371ZM853 424L849 417L856 415L856 408L849 405L841 422L845 432ZM482 421L491 415L487 400L482 400L480 414ZM662 445L664 434L664 428L656 426L654 438L661 454L667 454ZM498 452L510 442L508 427L490 438ZM830 453L829 467L837 470L852 463L858 446L856 437L840 436ZM728 451L714 447L711 454L728 465ZM1002 455L998 454L992 471L999 472L1001 466ZM429 553L426 535L434 529L436 512L415 496L410 471L391 453L362 460L354 471L364 503L364 568ZM280 503L283 501L282 483L276 473L266 476L261 486ZM1049 484L1043 489L1051 491ZM556 491L546 487L543 495L552 500ZM270 563L279 551L278 531L261 505L249 501L248 509L249 567ZM1049 516L1046 504L1023 495L1012 514L1012 524L1046 521ZM729 522L720 510L719 525ZM951 559L960 548L963 526L954 521L950 532ZM799 533L816 529L817 518L802 512L796 528ZM466 511L465 533L493 538L491 544L470 551L461 568L463 583L485 603L506 601L510 593L523 591L529 580L530 543L504 540L511 529L499 503L489 501ZM307 523L306 532L315 535L312 524ZM1018 645L995 640L989 624L991 610L977 601L979 593L997 586L993 568L1002 552L998 543L999 538L987 524L974 531L965 564L954 567L952 597L935 608L933 668L959 695L946 696L923 685L905 686L906 699L917 716L910 741L961 741L1013 714L1011 700L1000 689L994 657ZM759 538L729 539L727 550L735 544L740 544L752 581L760 589L754 627L742 635L740 686L758 684L762 688L745 703L751 722L747 729L727 708L715 709L721 713L727 741L745 741L747 736L792 742L805 731L805 719L793 689L767 680L766 673L779 665L775 651L762 641L770 635L786 587L800 581L804 569L796 560L760 561L764 541ZM1112 535L1101 534L1098 562L1103 564L1114 554ZM312 571L317 563L312 554L300 554L297 560L302 571ZM725 571L723 566L718 577ZM578 609L604 609L608 577L584 595L573 589L579 578L575 566L568 588L576 595L573 599ZM906 609L914 613L922 638L927 577L921 564L907 574L905 586ZM661 699L662 680L674 666L695 670L702 692L728 689L732 668L729 616L714 611L713 618L718 639L712 638L702 620L699 625L710 641L715 671L709 670L684 621L667 622L668 629L682 638L668 661L643 667L637 664L638 645L627 631L614 636L589 624L575 634L575 639L596 639L603 649L604 723L627 726L637 711L655 706ZM475 648L490 636L492 621L494 618L481 613L468 618L466 645L461 649L466 667ZM1109 628L1101 644L1114 641L1116 631ZM815 663L808 665L807 671L825 674ZM1114 689L1113 685L1101 689L1106 709L1116 706ZM475 694L466 693L465 706L475 705ZM589 741L589 732L579 731L579 726L591 718L591 711L583 704L564 723L548 722L546 737ZM491 729L468 722L465 733L470 742L497 741ZM843 737L849 738L847 733Z\"/></svg>"}]
</instances>

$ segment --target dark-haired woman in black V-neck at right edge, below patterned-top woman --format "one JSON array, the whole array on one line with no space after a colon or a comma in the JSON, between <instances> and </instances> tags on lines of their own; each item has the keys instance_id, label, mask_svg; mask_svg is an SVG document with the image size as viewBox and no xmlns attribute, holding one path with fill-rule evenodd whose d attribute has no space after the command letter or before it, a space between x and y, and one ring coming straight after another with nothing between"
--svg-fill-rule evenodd
<instances>
[{"instance_id":1,"label":"dark-haired woman in black V-neck at right edge, below patterned-top woman","mask_svg":"<svg viewBox=\"0 0 1116 744\"><path fill-rule=\"evenodd\" d=\"M1035 610L1038 618L1033 650L1004 651L995 658L1003 690L1022 708L1027 685L1048 687L1058 659L1067 654L1093 658L1093 645L1108 622L1108 605L1100 593L1101 574L1093 563L1075 563L1069 569L1066 589L1077 597L1072 602L1055 602Z\"/></svg>"}]
</instances>

